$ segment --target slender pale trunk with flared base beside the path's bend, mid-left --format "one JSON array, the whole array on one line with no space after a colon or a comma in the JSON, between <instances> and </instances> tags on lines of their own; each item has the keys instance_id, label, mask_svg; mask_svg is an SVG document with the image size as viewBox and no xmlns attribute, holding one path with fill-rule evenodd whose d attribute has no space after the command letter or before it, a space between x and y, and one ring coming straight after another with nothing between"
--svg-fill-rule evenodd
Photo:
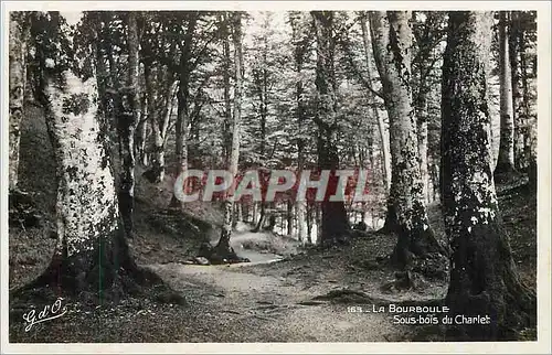
<instances>
[{"instance_id":1,"label":"slender pale trunk with flared base beside the path's bend, mid-left","mask_svg":"<svg viewBox=\"0 0 552 355\"><path fill-rule=\"evenodd\" d=\"M229 171L235 179L237 175L237 163L240 160L240 125L242 119L242 87L243 87L243 53L242 53L242 13L232 12L232 40L234 44L234 110L232 119L232 150L229 161ZM232 211L234 205L234 184L227 190L224 200L224 222L221 238L215 247L215 251L221 257L238 259L230 246L232 235Z\"/></svg>"}]
</instances>

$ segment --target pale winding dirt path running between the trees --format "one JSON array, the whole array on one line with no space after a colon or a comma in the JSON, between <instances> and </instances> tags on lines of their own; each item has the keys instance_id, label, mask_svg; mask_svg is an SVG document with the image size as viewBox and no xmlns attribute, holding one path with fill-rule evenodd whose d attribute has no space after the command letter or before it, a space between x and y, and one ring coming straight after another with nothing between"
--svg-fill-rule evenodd
<instances>
[{"instance_id":1,"label":"pale winding dirt path running between the trees","mask_svg":"<svg viewBox=\"0 0 552 355\"><path fill-rule=\"evenodd\" d=\"M241 232L234 237L233 246L266 237ZM243 250L236 248L236 251L243 256ZM210 318L210 331L221 336L213 341L386 342L400 338L400 330L386 313L351 313L343 304L312 301L331 289L347 288L344 280L329 279L328 282L319 278L321 275L297 272L301 266L274 262L275 255L248 250L246 256L254 262L150 267L174 289L193 294L193 300L212 310L205 315Z\"/></svg>"}]
</instances>

